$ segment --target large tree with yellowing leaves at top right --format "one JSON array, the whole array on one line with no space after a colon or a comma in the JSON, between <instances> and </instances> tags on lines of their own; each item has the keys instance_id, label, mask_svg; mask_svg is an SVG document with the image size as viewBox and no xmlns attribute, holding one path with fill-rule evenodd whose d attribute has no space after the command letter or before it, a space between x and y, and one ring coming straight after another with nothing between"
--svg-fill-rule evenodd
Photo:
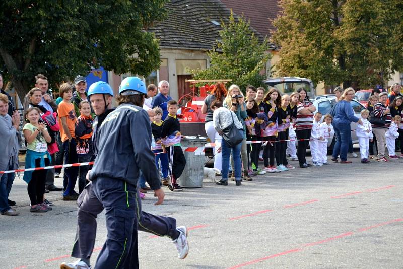
<instances>
[{"instance_id":1,"label":"large tree with yellowing leaves at top right","mask_svg":"<svg viewBox=\"0 0 403 269\"><path fill-rule=\"evenodd\" d=\"M383 85L403 68L400 0L281 0L277 75L344 87Z\"/></svg>"}]
</instances>

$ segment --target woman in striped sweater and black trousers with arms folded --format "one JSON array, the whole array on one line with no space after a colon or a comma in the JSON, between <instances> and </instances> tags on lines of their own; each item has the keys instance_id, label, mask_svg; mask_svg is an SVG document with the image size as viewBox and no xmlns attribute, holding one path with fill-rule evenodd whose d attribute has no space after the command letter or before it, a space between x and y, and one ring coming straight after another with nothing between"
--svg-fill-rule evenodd
<instances>
[{"instance_id":1,"label":"woman in striped sweater and black trousers with arms folded","mask_svg":"<svg viewBox=\"0 0 403 269\"><path fill-rule=\"evenodd\" d=\"M298 141L297 156L299 161L299 167L308 168L309 165L306 163L306 149L309 145L309 139L311 138L312 131L312 119L313 112L315 112L316 107L309 101L304 88L299 88L297 92L300 95L300 102L297 105L297 121L295 123L297 134L297 139L306 139L304 141Z\"/></svg>"}]
</instances>

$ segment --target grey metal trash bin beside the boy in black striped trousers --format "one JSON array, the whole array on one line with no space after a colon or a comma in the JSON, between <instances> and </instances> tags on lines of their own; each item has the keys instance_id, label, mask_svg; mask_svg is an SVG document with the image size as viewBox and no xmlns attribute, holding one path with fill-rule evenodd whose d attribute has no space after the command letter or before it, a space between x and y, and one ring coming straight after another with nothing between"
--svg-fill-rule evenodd
<instances>
[{"instance_id":1,"label":"grey metal trash bin beside the boy in black striped trousers","mask_svg":"<svg viewBox=\"0 0 403 269\"><path fill-rule=\"evenodd\" d=\"M179 178L179 184L183 188L201 188L205 168L204 147L207 138L186 136L180 143L185 155L186 166Z\"/></svg>"}]
</instances>

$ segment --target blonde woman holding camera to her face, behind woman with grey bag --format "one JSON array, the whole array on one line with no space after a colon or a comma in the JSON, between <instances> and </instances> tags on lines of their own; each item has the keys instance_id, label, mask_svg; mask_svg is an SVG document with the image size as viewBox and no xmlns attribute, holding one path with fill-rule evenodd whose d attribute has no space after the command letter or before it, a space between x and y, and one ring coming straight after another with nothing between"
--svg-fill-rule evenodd
<instances>
[{"instance_id":1,"label":"blonde woman holding camera to her face, behind woman with grey bag","mask_svg":"<svg viewBox=\"0 0 403 269\"><path fill-rule=\"evenodd\" d=\"M243 94L239 87L235 84L232 84L228 89L227 97L224 100L224 107L233 111L238 118L238 120L242 123L243 127L243 140L241 146L241 156L242 156L242 165L244 170L243 178L247 181L251 181L251 178L248 175L247 167L248 167L248 153L246 150L246 128L245 128L245 118L247 116L246 112L246 103L243 97ZM231 161L232 171L234 171L234 163ZM245 172L246 170L246 172ZM232 172L231 179L234 179L234 172Z\"/></svg>"}]
</instances>

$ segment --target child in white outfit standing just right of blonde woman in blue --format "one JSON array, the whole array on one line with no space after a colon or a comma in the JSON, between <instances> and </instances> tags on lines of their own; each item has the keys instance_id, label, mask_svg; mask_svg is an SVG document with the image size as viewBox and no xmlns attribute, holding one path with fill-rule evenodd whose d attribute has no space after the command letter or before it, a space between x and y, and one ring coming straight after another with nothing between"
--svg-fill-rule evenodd
<instances>
[{"instance_id":1,"label":"child in white outfit standing just right of blonde woman in blue","mask_svg":"<svg viewBox=\"0 0 403 269\"><path fill-rule=\"evenodd\" d=\"M373 141L374 134L372 133L371 123L368 121L369 110L361 111L361 124L357 124L356 134L358 144L360 145L361 163L369 163L369 141Z\"/></svg>"}]
</instances>

